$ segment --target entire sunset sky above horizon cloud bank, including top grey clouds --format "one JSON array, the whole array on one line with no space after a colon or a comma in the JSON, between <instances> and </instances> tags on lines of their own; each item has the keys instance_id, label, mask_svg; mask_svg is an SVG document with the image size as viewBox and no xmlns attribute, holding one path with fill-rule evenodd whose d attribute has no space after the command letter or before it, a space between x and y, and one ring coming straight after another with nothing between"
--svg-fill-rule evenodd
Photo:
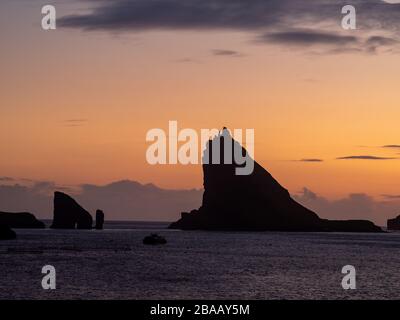
<instances>
[{"instance_id":1,"label":"entire sunset sky above horizon cloud bank, including top grey clouds","mask_svg":"<svg viewBox=\"0 0 400 320\"><path fill-rule=\"evenodd\" d=\"M380 0L1 1L0 175L201 188L200 166L146 162L147 131L176 120L254 128L293 194L397 197L399 16Z\"/></svg>"}]
</instances>

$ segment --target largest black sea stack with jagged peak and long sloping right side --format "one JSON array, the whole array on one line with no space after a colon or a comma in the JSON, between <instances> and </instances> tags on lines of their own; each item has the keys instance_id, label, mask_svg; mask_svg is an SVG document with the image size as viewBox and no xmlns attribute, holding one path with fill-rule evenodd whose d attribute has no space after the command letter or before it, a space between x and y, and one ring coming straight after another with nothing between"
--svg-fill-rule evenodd
<instances>
[{"instance_id":1,"label":"largest black sea stack with jagged peak and long sloping right side","mask_svg":"<svg viewBox=\"0 0 400 320\"><path fill-rule=\"evenodd\" d=\"M314 231L314 232L382 232L370 221L329 221L294 201L271 174L254 161L250 175L236 175L233 164L223 164L224 144L247 151L222 132L207 144L205 154L212 159L212 150L220 146L221 164L203 164L204 194L198 210L183 212L170 229L232 231ZM215 149L215 146L217 146ZM233 147L231 148L233 154ZM229 153L228 153L229 154ZM233 157L232 157L233 158ZM234 158L233 158L234 159Z\"/></svg>"}]
</instances>

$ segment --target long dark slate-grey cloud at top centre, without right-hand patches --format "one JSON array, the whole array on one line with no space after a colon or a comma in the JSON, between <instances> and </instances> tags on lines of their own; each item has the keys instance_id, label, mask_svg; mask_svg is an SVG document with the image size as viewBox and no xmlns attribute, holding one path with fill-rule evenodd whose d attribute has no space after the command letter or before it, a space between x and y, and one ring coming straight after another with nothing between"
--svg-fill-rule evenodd
<instances>
[{"instance_id":1,"label":"long dark slate-grey cloud at top centre, without right-hand patches","mask_svg":"<svg viewBox=\"0 0 400 320\"><path fill-rule=\"evenodd\" d=\"M91 13L65 16L58 24L85 30L253 30L277 24L276 13L282 14L284 9L280 0L114 0L99 3Z\"/></svg>"}]
</instances>

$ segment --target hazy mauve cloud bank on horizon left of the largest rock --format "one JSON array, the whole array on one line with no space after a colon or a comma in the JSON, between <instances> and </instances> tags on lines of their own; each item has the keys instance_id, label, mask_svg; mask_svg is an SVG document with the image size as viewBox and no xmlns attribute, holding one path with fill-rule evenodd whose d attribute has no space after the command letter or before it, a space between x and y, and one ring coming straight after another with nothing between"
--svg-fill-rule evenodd
<instances>
[{"instance_id":1,"label":"hazy mauve cloud bank on horizon left of the largest rock","mask_svg":"<svg viewBox=\"0 0 400 320\"><path fill-rule=\"evenodd\" d=\"M56 190L71 194L92 214L101 208L111 220L174 221L182 211L199 207L203 194L202 190L168 190L135 181L79 188L36 181L29 185L0 185L0 211L28 211L50 219Z\"/></svg>"}]
</instances>

